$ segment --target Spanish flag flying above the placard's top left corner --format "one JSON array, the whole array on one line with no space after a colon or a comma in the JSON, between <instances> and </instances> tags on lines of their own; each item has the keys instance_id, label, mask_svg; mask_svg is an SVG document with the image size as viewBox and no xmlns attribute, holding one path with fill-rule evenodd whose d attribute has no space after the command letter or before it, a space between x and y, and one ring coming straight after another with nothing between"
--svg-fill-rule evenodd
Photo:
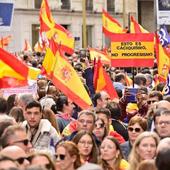
<instances>
[{"instance_id":1,"label":"Spanish flag flying above the placard's top left corner","mask_svg":"<svg viewBox=\"0 0 170 170\"><path fill-rule=\"evenodd\" d=\"M119 22L103 9L102 14L103 32L110 37L113 33L125 33Z\"/></svg>"}]
</instances>

